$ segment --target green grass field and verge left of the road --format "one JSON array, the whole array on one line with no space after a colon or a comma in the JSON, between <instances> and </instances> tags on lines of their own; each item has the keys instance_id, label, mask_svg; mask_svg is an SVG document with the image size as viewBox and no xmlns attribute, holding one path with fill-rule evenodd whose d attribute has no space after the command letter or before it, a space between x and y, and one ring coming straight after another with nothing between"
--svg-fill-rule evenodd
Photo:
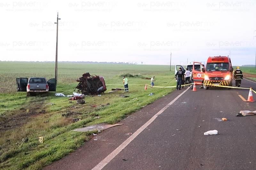
<instances>
[{"instance_id":1,"label":"green grass field and verge left of the road","mask_svg":"<svg viewBox=\"0 0 256 170\"><path fill-rule=\"evenodd\" d=\"M59 63L57 92L72 94L77 85L76 78L85 72L104 76L106 84L115 85L107 85L108 90L102 96L87 96L84 105L77 105L76 101L69 103L66 97L55 97L55 92L32 97L27 97L26 92L16 92L16 77L50 79L54 77L54 66L54 63L47 62L0 62L0 169L40 169L75 151L93 133L74 132L72 129L119 122L174 90L148 87L145 91L144 86L150 84L150 80L143 77L155 76L156 86L176 84L169 66ZM174 70L174 66L172 68ZM121 98L122 91L108 93L111 88L123 88L120 75L125 73L141 75L128 78L130 92L126 94L130 97ZM151 92L154 95L148 96ZM55 105L45 107L47 103ZM42 110L45 113L40 113ZM69 117L61 116L67 111L75 113ZM73 122L78 115L83 119ZM38 137L44 137L44 143L39 143Z\"/></svg>"}]
</instances>

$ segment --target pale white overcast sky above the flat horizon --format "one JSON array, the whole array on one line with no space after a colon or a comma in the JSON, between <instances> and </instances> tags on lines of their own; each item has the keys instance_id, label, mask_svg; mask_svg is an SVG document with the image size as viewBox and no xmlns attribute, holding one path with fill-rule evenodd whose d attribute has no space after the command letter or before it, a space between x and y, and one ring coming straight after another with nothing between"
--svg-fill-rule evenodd
<instances>
[{"instance_id":1,"label":"pale white overcast sky above the flat horizon","mask_svg":"<svg viewBox=\"0 0 256 170\"><path fill-rule=\"evenodd\" d=\"M256 0L1 0L0 60L254 64ZM255 37L254 37L255 36ZM254 39L253 39L254 38Z\"/></svg>"}]
</instances>

